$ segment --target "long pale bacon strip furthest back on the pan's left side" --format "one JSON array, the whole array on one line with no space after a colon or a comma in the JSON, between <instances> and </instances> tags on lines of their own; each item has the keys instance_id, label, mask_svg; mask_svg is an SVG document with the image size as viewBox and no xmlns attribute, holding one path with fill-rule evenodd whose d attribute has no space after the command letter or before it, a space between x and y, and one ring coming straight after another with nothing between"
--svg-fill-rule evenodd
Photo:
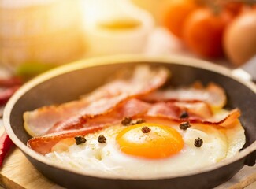
<instances>
[{"instance_id":1,"label":"long pale bacon strip furthest back on the pan's left side","mask_svg":"<svg viewBox=\"0 0 256 189\"><path fill-rule=\"evenodd\" d=\"M169 76L167 69L140 65L119 72L114 80L99 87L79 101L60 106L46 106L24 113L24 127L32 136L45 135L54 126L72 128L83 117L95 117L114 109L129 98L147 95L161 87Z\"/></svg>"}]
</instances>

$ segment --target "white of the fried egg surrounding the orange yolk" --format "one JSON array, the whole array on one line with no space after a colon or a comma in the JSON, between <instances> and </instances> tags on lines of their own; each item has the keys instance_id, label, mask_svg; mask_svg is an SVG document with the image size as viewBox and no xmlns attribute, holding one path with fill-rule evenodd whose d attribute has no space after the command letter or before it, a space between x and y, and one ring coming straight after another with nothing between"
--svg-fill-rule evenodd
<instances>
[{"instance_id":1,"label":"white of the fried egg surrounding the orange yolk","mask_svg":"<svg viewBox=\"0 0 256 189\"><path fill-rule=\"evenodd\" d=\"M46 154L46 158L92 174L100 172L121 178L152 178L202 168L230 158L245 143L244 130L239 121L234 126L235 129L220 129L202 124L192 124L186 131L181 130L178 124L173 124L172 127L182 135L184 148L169 158L138 158L121 152L116 141L117 134L124 129L120 125L86 135L86 143L74 143L65 151ZM104 135L106 143L98 143L98 135ZM194 145L198 137L203 140L201 147Z\"/></svg>"}]
</instances>

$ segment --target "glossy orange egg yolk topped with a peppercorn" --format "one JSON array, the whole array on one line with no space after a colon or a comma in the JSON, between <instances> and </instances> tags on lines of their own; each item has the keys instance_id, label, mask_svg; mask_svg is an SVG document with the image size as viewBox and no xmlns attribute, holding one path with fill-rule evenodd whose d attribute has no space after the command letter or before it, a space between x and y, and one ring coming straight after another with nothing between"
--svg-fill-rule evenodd
<instances>
[{"instance_id":1,"label":"glossy orange egg yolk topped with a peppercorn","mask_svg":"<svg viewBox=\"0 0 256 189\"><path fill-rule=\"evenodd\" d=\"M143 127L150 128L144 133ZM120 150L140 158L167 158L177 154L184 146L184 140L174 128L161 124L135 124L124 128L117 135Z\"/></svg>"}]
</instances>

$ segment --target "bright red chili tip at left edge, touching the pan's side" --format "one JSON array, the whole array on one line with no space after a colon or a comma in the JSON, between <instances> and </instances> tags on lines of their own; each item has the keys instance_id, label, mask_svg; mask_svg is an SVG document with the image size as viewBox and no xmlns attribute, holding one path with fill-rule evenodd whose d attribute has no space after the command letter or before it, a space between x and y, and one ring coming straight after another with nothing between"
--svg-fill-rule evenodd
<instances>
[{"instance_id":1,"label":"bright red chili tip at left edge, touching the pan's side","mask_svg":"<svg viewBox=\"0 0 256 189\"><path fill-rule=\"evenodd\" d=\"M2 161L4 161L11 146L13 146L13 141L9 139L9 135L4 132L0 137L0 166L2 166Z\"/></svg>"}]
</instances>

